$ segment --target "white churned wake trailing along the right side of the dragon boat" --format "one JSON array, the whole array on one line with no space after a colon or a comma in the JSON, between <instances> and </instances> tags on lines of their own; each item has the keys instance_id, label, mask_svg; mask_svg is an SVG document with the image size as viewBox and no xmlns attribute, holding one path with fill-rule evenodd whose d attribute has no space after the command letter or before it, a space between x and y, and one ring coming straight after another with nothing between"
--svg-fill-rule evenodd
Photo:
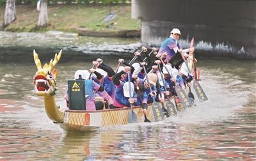
<instances>
[{"instance_id":1,"label":"white churned wake trailing along the right side of the dragon boat","mask_svg":"<svg viewBox=\"0 0 256 161\"><path fill-rule=\"evenodd\" d=\"M201 78L200 84L209 100L199 102L195 90L191 88L195 95L195 104L184 111L179 111L178 116L157 123L129 124L102 128L102 130L110 128L111 130L137 131L140 126L179 125L180 123L207 124L236 116L238 114L236 111L243 108L243 105L248 102L250 95L253 93L252 85L241 81L239 77L233 77L232 74L221 73L216 70L202 69L201 71L204 72L204 77ZM218 72L218 75L215 74L216 72Z\"/></svg>"}]
</instances>

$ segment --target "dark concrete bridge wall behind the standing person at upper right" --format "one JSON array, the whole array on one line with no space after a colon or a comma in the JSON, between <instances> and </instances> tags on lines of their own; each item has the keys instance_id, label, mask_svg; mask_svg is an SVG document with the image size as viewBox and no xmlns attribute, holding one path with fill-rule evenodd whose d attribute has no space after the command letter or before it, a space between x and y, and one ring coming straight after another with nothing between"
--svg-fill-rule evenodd
<instances>
[{"instance_id":1,"label":"dark concrete bridge wall behind the standing person at upper right","mask_svg":"<svg viewBox=\"0 0 256 161\"><path fill-rule=\"evenodd\" d=\"M141 41L150 45L177 27L183 48L195 37L201 54L256 59L256 1L132 0L132 19L141 20Z\"/></svg>"}]
</instances>

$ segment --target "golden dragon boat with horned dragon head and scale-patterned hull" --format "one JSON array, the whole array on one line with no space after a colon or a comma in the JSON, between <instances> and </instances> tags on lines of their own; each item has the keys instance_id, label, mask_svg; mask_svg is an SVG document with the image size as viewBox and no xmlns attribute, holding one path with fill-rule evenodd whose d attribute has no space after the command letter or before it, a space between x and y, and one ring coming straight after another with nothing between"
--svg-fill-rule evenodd
<instances>
[{"instance_id":1,"label":"golden dragon boat with horned dragon head and scale-patterned hull","mask_svg":"<svg viewBox=\"0 0 256 161\"><path fill-rule=\"evenodd\" d=\"M143 110L141 107L124 107L122 109L103 109L97 111L84 111L74 109L61 110L60 105L55 102L56 95L56 77L58 70L54 68L61 58L61 50L59 54L55 54L54 60L51 59L49 64L45 63L42 67L38 54L33 51L37 72L35 73L33 82L35 84L35 94L44 97L45 112L49 119L54 123L60 124L60 127L68 130L92 131L100 127L108 127L114 125L127 125L129 123L129 112L136 115L138 123L144 121ZM82 87L79 82L72 82L74 91L79 91ZM76 83L76 84L75 84ZM102 101L101 98L95 98L95 101ZM166 100L166 105L170 100ZM158 103L157 103L158 104ZM159 106L159 105L158 105ZM77 108L81 109L81 108ZM170 108L172 115L174 111ZM161 109L157 109L153 104L148 104L147 118L150 121L161 121L166 119Z\"/></svg>"}]
</instances>

